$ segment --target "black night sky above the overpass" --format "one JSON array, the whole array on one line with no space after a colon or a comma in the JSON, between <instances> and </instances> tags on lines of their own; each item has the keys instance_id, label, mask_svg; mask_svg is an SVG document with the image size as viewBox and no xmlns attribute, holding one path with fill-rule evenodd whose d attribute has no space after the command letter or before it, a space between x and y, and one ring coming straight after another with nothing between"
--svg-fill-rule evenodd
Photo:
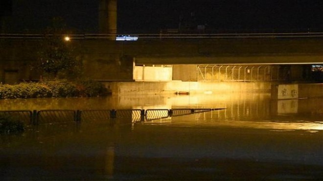
<instances>
[{"instance_id":1,"label":"black night sky above the overpass","mask_svg":"<svg viewBox=\"0 0 323 181\"><path fill-rule=\"evenodd\" d=\"M96 33L98 0L13 0L15 32L63 17L74 32ZM193 17L191 16L194 15ZM323 30L323 0L118 0L119 33L158 33L185 24L208 29Z\"/></svg>"}]
</instances>

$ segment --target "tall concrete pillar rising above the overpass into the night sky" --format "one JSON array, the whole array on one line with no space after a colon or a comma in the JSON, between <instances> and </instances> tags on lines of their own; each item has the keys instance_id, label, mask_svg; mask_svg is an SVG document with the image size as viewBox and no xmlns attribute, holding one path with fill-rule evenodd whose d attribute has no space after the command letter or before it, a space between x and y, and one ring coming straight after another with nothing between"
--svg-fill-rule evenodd
<instances>
[{"instance_id":1,"label":"tall concrete pillar rising above the overpass into the night sky","mask_svg":"<svg viewBox=\"0 0 323 181\"><path fill-rule=\"evenodd\" d=\"M99 33L116 34L116 1L99 1Z\"/></svg>"}]
</instances>

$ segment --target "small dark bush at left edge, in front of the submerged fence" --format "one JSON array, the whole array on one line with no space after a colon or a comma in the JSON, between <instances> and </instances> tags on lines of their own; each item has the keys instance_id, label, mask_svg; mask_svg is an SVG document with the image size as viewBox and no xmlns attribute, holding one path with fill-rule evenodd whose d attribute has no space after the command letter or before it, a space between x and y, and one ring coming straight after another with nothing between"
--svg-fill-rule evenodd
<instances>
[{"instance_id":1,"label":"small dark bush at left edge, in front of the submerged fence","mask_svg":"<svg viewBox=\"0 0 323 181\"><path fill-rule=\"evenodd\" d=\"M24 131L24 124L10 116L0 115L0 134L21 133Z\"/></svg>"}]
</instances>

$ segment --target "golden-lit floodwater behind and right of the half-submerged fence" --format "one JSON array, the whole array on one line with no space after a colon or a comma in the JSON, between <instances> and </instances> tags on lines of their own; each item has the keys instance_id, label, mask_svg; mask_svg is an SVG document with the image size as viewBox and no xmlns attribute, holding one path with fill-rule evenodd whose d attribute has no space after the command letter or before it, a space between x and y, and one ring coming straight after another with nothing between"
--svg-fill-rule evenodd
<instances>
[{"instance_id":1,"label":"golden-lit floodwater behind and right of the half-submerged fence","mask_svg":"<svg viewBox=\"0 0 323 181\"><path fill-rule=\"evenodd\" d=\"M226 108L147 122L177 126L323 130L323 98L271 100L266 93L0 100L0 110Z\"/></svg>"}]
</instances>

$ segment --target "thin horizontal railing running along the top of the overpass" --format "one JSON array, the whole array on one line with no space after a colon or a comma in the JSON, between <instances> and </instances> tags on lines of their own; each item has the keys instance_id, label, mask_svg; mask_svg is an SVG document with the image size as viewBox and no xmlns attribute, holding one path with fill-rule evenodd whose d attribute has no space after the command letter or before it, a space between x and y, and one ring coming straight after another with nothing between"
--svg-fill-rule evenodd
<instances>
[{"instance_id":1,"label":"thin horizontal railing running along the top of the overpass","mask_svg":"<svg viewBox=\"0 0 323 181\"><path fill-rule=\"evenodd\" d=\"M46 35L46 37L51 35ZM319 38L323 32L301 32L301 33L160 33L160 34L62 34L62 38L68 36L69 40L80 39L107 39L116 40L116 37L136 37L133 40L156 40L156 39L228 39L228 38ZM43 34L0 34L1 39L43 39ZM138 39L137 39L138 38ZM127 41L127 39L125 39Z\"/></svg>"}]
</instances>

